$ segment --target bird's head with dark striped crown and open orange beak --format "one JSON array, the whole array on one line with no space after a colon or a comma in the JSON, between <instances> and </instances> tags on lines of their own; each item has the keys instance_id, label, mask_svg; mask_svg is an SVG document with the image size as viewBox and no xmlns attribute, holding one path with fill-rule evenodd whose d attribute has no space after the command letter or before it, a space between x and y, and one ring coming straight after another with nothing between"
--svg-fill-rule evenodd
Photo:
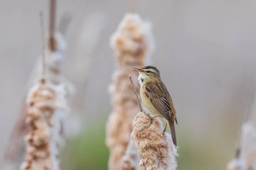
<instances>
[{"instance_id":1,"label":"bird's head with dark striped crown and open orange beak","mask_svg":"<svg viewBox=\"0 0 256 170\"><path fill-rule=\"evenodd\" d=\"M160 79L160 72L154 66L148 65L143 68L134 68L134 71L139 72L139 83L140 85L145 84L146 82L156 81Z\"/></svg>"}]
</instances>

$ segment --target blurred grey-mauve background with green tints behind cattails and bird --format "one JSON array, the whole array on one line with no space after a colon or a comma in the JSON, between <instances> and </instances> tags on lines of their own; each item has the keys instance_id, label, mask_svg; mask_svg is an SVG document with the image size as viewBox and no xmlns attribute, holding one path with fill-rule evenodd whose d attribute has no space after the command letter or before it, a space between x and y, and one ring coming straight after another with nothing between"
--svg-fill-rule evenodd
<instances>
[{"instance_id":1,"label":"blurred grey-mauve background with green tints behind cattails and bird","mask_svg":"<svg viewBox=\"0 0 256 170\"><path fill-rule=\"evenodd\" d=\"M115 68L109 38L129 2L59 0L70 12L65 75L76 88L61 170L107 170L105 122ZM247 93L256 73L253 0L135 0L153 25L151 56L177 111L178 170L224 170L234 157ZM41 54L39 11L48 1L0 1L0 158L19 119L30 75ZM58 23L58 22L57 22ZM48 28L48 27L47 27Z\"/></svg>"}]
</instances>

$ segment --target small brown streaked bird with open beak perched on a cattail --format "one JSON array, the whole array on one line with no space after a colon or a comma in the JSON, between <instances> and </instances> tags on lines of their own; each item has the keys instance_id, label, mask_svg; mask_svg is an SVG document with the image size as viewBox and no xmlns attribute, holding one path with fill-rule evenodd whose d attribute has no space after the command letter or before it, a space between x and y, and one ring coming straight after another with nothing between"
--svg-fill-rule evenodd
<instances>
[{"instance_id":1,"label":"small brown streaked bird with open beak perched on a cattail","mask_svg":"<svg viewBox=\"0 0 256 170\"><path fill-rule=\"evenodd\" d=\"M172 97L161 80L159 70L152 65L148 65L143 68L134 68L134 71L139 72L140 97L145 108L153 115L151 122L156 117L165 119L166 125L163 135L168 124L172 134L172 142L177 147L175 122L176 124L178 123L176 110L172 102Z\"/></svg>"}]
</instances>

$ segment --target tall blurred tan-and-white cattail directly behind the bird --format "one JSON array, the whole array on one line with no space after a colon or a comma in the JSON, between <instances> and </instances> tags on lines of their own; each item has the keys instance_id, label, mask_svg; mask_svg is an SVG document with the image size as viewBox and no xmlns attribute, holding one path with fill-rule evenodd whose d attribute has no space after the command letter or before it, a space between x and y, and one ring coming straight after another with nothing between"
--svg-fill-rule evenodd
<instances>
[{"instance_id":1,"label":"tall blurred tan-and-white cattail directly behind the bird","mask_svg":"<svg viewBox=\"0 0 256 170\"><path fill-rule=\"evenodd\" d=\"M119 170L130 135L131 124L138 111L136 97L128 78L137 77L133 68L144 66L146 56L152 51L151 24L138 14L126 14L116 32L111 36L111 47L115 51L116 71L110 87L113 111L107 122L106 143L110 149L108 167ZM136 82L136 88L140 85Z\"/></svg>"}]
</instances>

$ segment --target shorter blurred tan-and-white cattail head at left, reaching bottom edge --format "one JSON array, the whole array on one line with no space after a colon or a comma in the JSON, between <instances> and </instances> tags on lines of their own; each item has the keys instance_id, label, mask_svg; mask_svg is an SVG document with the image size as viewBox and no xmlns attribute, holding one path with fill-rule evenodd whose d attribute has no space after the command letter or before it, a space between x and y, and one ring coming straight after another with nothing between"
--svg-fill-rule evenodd
<instances>
[{"instance_id":1,"label":"shorter blurred tan-and-white cattail head at left, reaching bottom edge","mask_svg":"<svg viewBox=\"0 0 256 170\"><path fill-rule=\"evenodd\" d=\"M52 85L41 79L29 90L25 136L26 156L20 170L58 170L58 145L61 110L67 110L63 85Z\"/></svg>"}]
</instances>

